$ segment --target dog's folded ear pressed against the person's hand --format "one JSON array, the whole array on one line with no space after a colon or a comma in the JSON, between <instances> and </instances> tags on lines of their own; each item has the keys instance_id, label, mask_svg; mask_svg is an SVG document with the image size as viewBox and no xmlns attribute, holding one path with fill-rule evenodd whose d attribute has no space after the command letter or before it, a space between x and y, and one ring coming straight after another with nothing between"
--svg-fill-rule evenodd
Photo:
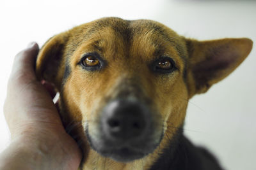
<instances>
[{"instance_id":1,"label":"dog's folded ear pressed against the person's hand","mask_svg":"<svg viewBox=\"0 0 256 170\"><path fill-rule=\"evenodd\" d=\"M54 83L60 90L64 71L65 59L63 57L68 36L65 32L50 38L40 49L36 59L36 76L38 80ZM63 64L62 64L63 63Z\"/></svg>"}]
</instances>

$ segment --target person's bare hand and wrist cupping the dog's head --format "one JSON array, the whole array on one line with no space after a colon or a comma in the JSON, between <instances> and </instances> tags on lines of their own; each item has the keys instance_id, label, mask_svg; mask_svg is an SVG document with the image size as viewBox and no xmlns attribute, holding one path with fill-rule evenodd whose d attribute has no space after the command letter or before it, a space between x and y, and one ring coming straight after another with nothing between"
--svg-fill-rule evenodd
<instances>
[{"instance_id":1,"label":"person's bare hand and wrist cupping the dog's head","mask_svg":"<svg viewBox=\"0 0 256 170\"><path fill-rule=\"evenodd\" d=\"M36 80L37 54L31 43L13 63L4 103L12 139L0 154L0 169L77 169L81 152L61 124L54 90Z\"/></svg>"}]
</instances>

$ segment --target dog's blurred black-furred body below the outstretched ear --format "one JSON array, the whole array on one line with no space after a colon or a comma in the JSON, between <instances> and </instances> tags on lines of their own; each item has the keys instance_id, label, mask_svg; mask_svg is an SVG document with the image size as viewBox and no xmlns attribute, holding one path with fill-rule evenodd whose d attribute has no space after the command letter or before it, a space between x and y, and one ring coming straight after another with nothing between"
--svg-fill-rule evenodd
<instances>
[{"instance_id":1,"label":"dog's blurred black-furred body below the outstretched ear","mask_svg":"<svg viewBox=\"0 0 256 170\"><path fill-rule=\"evenodd\" d=\"M186 170L221 170L218 160L205 148L193 145L181 132L176 134L168 147L149 170L186 169Z\"/></svg>"}]
</instances>

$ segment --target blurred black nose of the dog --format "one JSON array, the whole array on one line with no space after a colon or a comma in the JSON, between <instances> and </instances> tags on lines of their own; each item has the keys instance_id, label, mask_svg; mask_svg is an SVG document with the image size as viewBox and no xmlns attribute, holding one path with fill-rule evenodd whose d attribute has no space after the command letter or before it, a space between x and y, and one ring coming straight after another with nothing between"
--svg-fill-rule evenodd
<instances>
[{"instance_id":1,"label":"blurred black nose of the dog","mask_svg":"<svg viewBox=\"0 0 256 170\"><path fill-rule=\"evenodd\" d=\"M149 111L138 101L111 101L102 112L102 127L108 138L129 141L143 137L150 124Z\"/></svg>"}]
</instances>

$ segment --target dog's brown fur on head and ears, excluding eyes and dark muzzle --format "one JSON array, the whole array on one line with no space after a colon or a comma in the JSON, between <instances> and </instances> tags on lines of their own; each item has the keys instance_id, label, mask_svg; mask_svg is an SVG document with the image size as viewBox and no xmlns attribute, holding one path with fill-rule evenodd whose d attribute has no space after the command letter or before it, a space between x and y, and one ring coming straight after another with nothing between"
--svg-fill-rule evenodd
<instances>
[{"instance_id":1,"label":"dog's brown fur on head and ears, excluding eyes and dark muzzle","mask_svg":"<svg viewBox=\"0 0 256 170\"><path fill-rule=\"evenodd\" d=\"M102 18L49 39L38 55L36 74L60 92L63 124L76 124L70 134L83 149L82 169L148 169L182 127L188 100L228 76L251 49L252 41L246 38L196 41L150 20ZM98 52L108 67L95 72L81 69L77 63L86 52ZM163 55L172 57L177 71L156 74L148 69L152 60ZM70 72L63 78L68 73L65 67ZM149 99L156 110L156 128L164 127L164 136L147 157L116 162L88 146L84 124L97 135L100 110L124 89L134 90L134 84L139 97Z\"/></svg>"}]
</instances>

